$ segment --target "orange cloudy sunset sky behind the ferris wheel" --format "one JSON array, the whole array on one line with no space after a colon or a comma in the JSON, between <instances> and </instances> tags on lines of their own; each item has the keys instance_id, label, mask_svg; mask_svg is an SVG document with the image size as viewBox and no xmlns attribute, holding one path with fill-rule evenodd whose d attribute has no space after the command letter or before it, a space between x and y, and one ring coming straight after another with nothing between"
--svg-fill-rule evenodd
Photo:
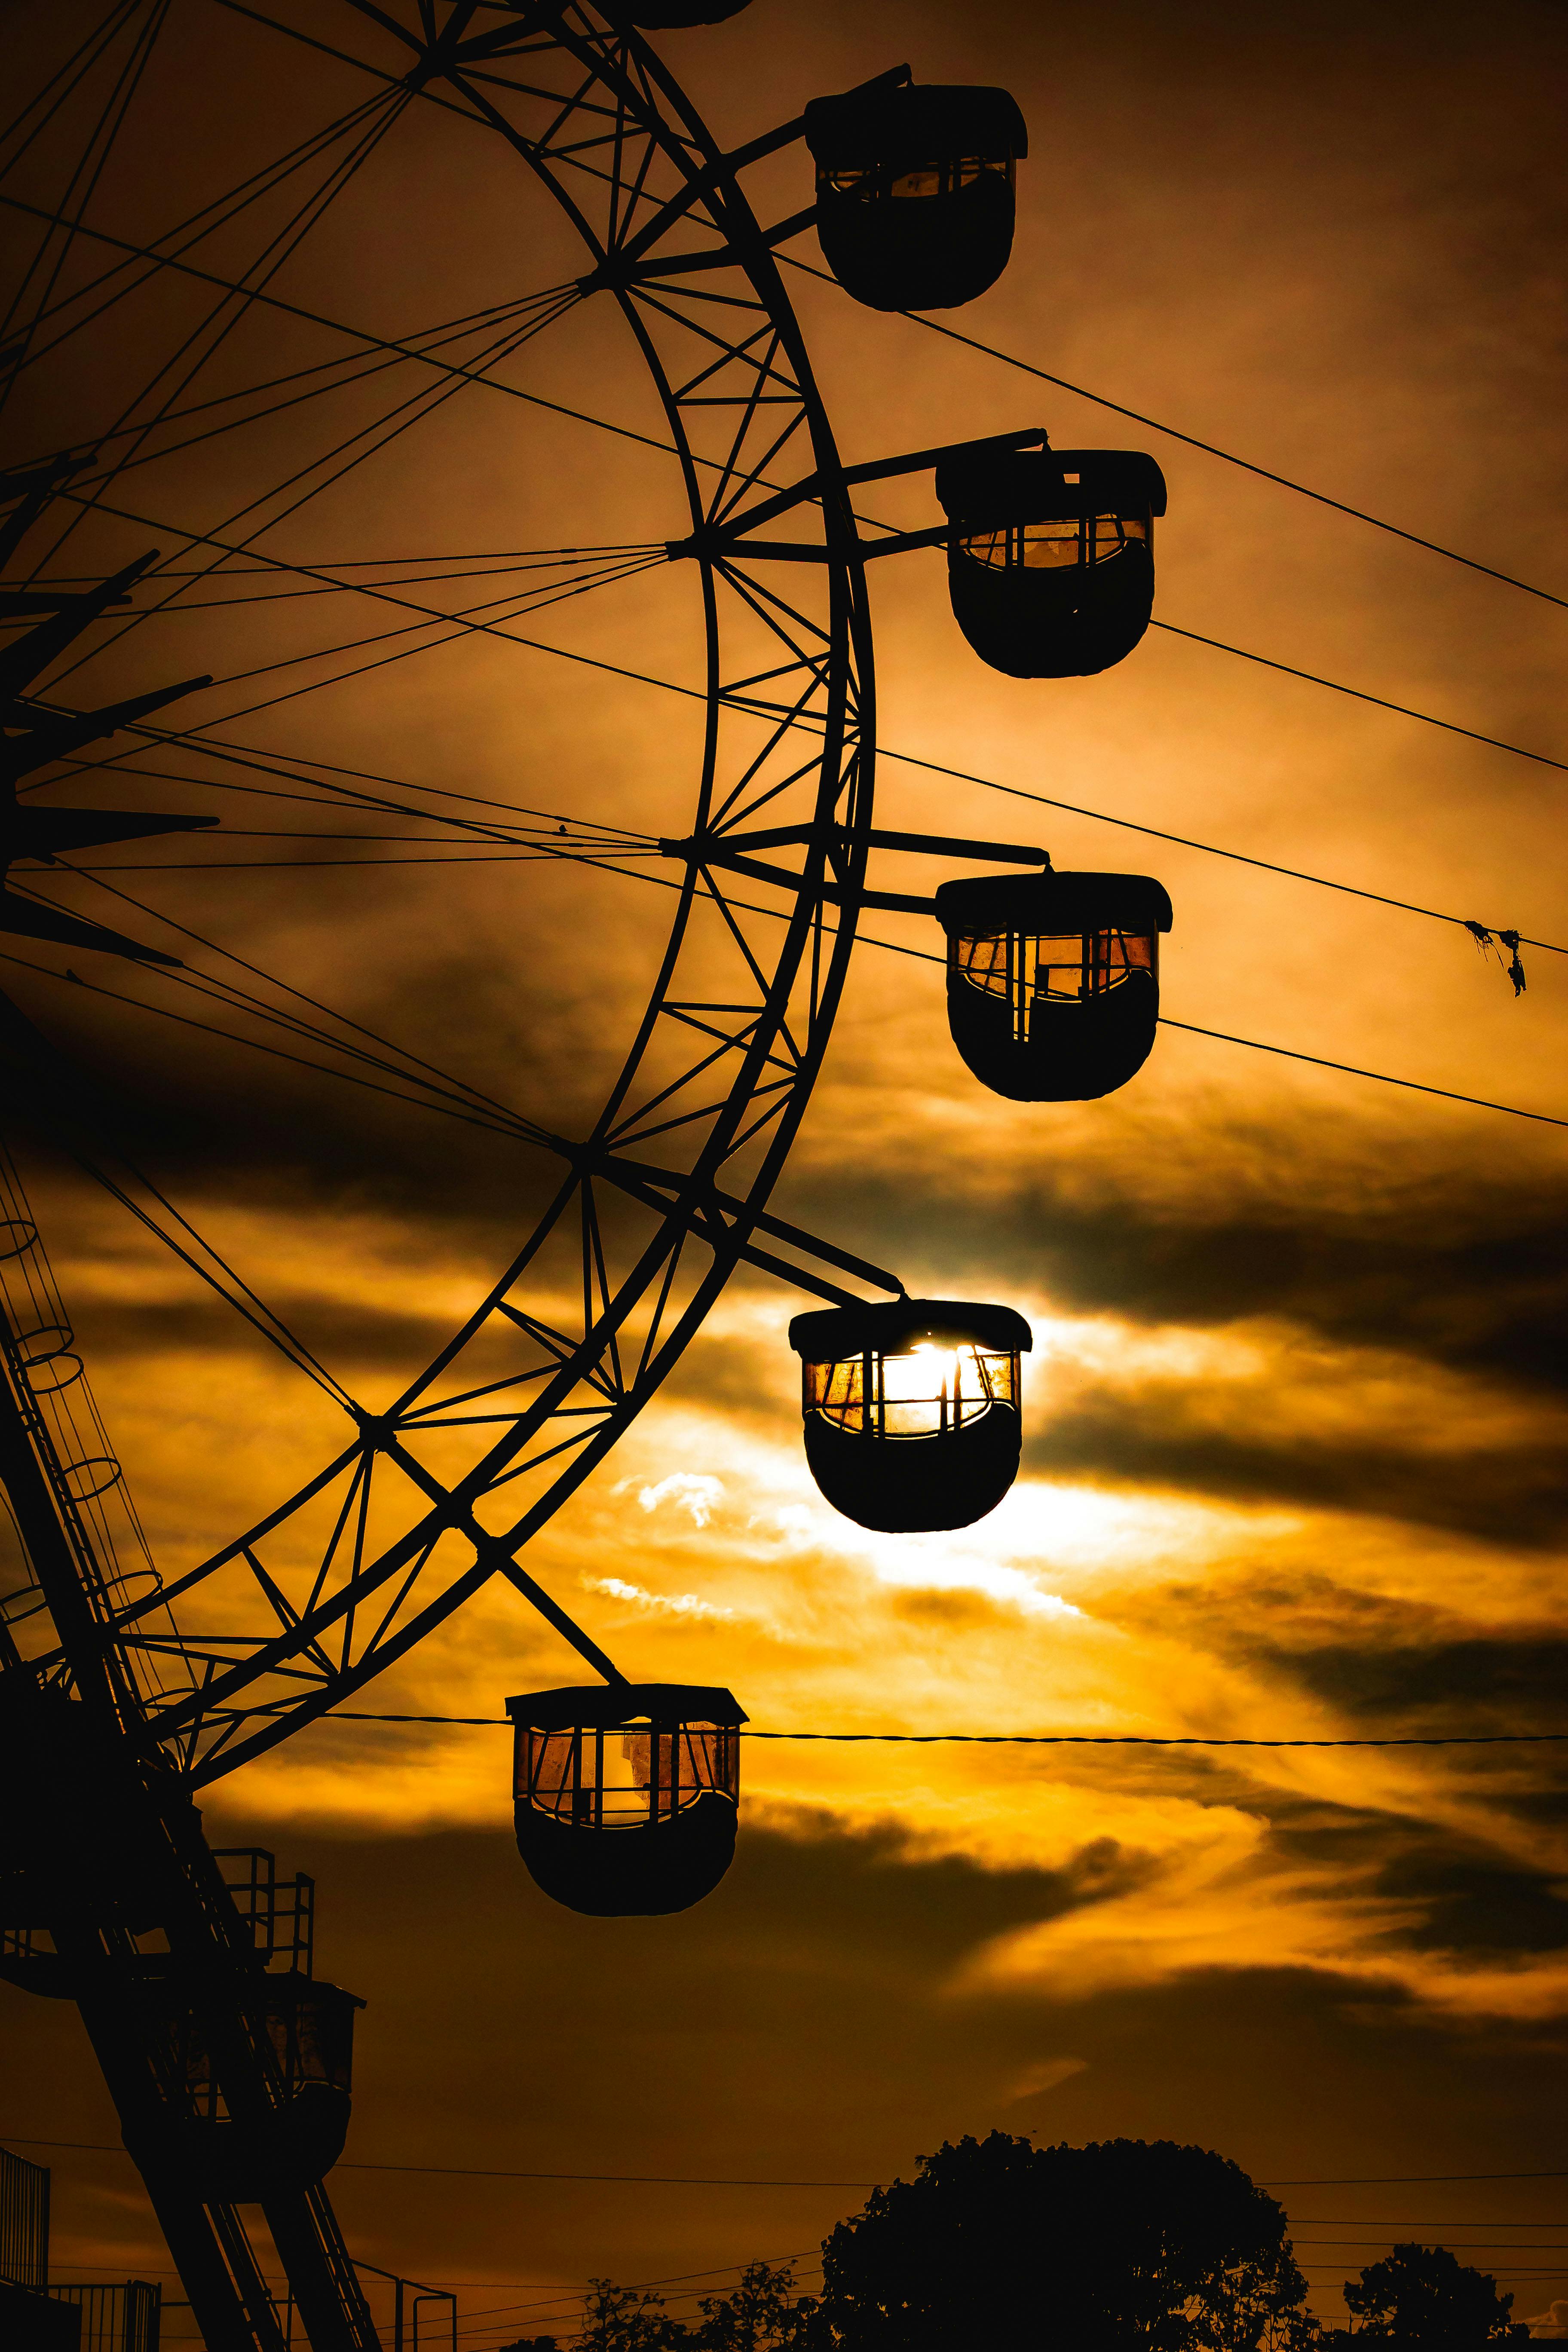
<instances>
[{"instance_id":1,"label":"orange cloudy sunset sky behind the ferris wheel","mask_svg":"<svg viewBox=\"0 0 1568 2352\"><path fill-rule=\"evenodd\" d=\"M134 9L113 71L160 14L85 214L129 245L369 87L209 0ZM341 16L343 45L371 54L348 9L270 14L315 31ZM94 21L82 5L12 7L19 87L45 85ZM936 318L1084 393L785 268L846 461L1046 426L1058 447L1147 449L1168 480L1164 628L1103 677L987 670L952 621L940 553L872 567L877 821L1159 875L1175 1023L1540 1117L1175 1025L1107 1101L1004 1103L950 1044L940 964L889 953L938 953L936 924L867 917L773 1209L914 1294L1030 1317L1016 1489L954 1536L837 1517L802 1458L785 1341L811 1301L743 1272L529 1571L628 1675L726 1684L762 1731L1566 1733L1568 12L752 0L731 24L651 38L729 148L900 61L1023 106L1011 268ZM106 96L106 78L85 85L0 176L7 285ZM188 259L216 278L252 266L320 186L310 172ZM762 219L799 209L804 151L748 186ZM809 233L785 252L820 266ZM56 294L113 259L78 240ZM183 405L341 353L303 310L409 341L581 266L501 141L411 103L268 280L294 308L247 310ZM209 299L160 278L38 358L0 463L106 433ZM454 348L468 365L470 346ZM668 459L559 414L661 430L604 296L496 374L531 397L468 386L341 480L313 473L292 513L261 517L249 574L233 560L212 583L186 579L122 640L106 621L94 659L42 689L89 706L212 673L165 724L317 779L393 779L407 814L331 818L320 795L268 797L254 769L261 797L240 797L242 771L214 753L120 736L101 746L113 774L61 771L42 800L216 814L223 833L200 851L176 837L78 861L108 880L136 868L120 887L139 906L92 877L19 880L197 971L244 978L221 953L244 957L581 1134L658 969L668 894L529 856L442 880L440 847L362 863L343 830L383 858L388 835L428 842L456 802L421 790L574 828L689 830L701 706L538 649L696 682L689 567L343 682L350 659L317 649L397 614L350 590L244 602L310 586L261 562L433 581L435 557L686 529ZM414 388L390 372L329 395L339 407L150 456L103 494L113 513L59 546L66 508L42 524L26 569L99 579L160 548L146 609L162 572L200 560L195 534L223 539L263 489ZM867 510L938 520L929 477L877 485ZM428 593L456 609L520 595L517 579ZM1103 818L1512 927L1528 988L1514 997L1453 920ZM315 866L268 830L334 840ZM247 870L214 873L228 861ZM884 861L875 880L924 889L973 870ZM437 1352L557 1181L527 1145L141 1009L214 1018L212 1000L106 957L5 946L33 969L5 962L0 985L110 1089L139 1164L371 1404ZM61 983L66 964L134 1002ZM308 1477L341 1425L35 1127L14 1141L153 1552L186 1566ZM581 1679L496 1583L355 1705L496 1717L512 1691ZM214 1785L205 1818L214 1844L266 1844L317 1875L317 1966L369 2004L331 2194L367 2263L463 2288L473 2352L567 2333L590 2274L677 2279L682 2312L757 2256L802 2253L811 2284L823 2232L870 2183L990 2129L1237 2157L1279 2185L1335 2324L1345 2277L1427 2237L1472 2244L1516 2317L1563 2336L1561 1757L750 1740L731 1875L651 1922L581 1919L531 1886L501 1729L317 1724ZM132 2166L42 2145L118 2140L75 2013L0 1987L0 2140L54 2164L56 2272L167 2270ZM508 2171L658 2178L491 2178Z\"/></svg>"}]
</instances>

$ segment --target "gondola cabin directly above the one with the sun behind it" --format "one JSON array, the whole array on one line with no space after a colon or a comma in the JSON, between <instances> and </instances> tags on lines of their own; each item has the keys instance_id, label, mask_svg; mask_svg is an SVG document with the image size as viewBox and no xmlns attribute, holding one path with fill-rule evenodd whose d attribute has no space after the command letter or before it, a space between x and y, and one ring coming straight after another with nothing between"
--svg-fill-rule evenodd
<instances>
[{"instance_id":1,"label":"gondola cabin directly above the one with the sun behind it","mask_svg":"<svg viewBox=\"0 0 1568 2352\"><path fill-rule=\"evenodd\" d=\"M1126 1087L1159 1023L1159 934L1171 901L1150 875L987 875L943 882L952 1042L1013 1103L1093 1103Z\"/></svg>"}]
</instances>

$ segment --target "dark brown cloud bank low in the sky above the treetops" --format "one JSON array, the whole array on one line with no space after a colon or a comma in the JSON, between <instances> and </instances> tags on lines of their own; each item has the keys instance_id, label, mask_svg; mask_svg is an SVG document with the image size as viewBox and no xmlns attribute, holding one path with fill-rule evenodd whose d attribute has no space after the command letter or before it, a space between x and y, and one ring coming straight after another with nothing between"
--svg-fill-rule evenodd
<instances>
[{"instance_id":1,"label":"dark brown cloud bank low in the sky above the treetops","mask_svg":"<svg viewBox=\"0 0 1568 2352\"><path fill-rule=\"evenodd\" d=\"M254 1839L317 1875L322 1973L369 1997L334 2201L355 2251L418 2277L548 2286L783 2256L865 2192L451 2180L353 2161L875 2180L992 2124L1046 2140L1180 2136L1262 2180L1556 2161L1537 2030L1455 2034L1331 1969L1194 1971L1074 2002L947 1990L983 1938L1133 1886L1143 1865L1114 1851L1065 1872L983 1872L799 1816L788 1837L748 1825L696 1912L588 1922L534 1893L503 1832L331 1839L216 1802L207 1820L214 1842ZM9 1987L0 2013L19 2032L9 2126L115 2138L75 2018ZM1053 2063L1070 2070L1018 2096ZM134 2199L108 2204L129 2187L110 2159L52 2161L59 2246L92 2260L141 2230L158 2260ZM1295 2216L1418 2220L1455 2211L1460 2192L1281 2194ZM1469 2187L1458 2211L1512 2218L1535 2211L1528 2194Z\"/></svg>"}]
</instances>

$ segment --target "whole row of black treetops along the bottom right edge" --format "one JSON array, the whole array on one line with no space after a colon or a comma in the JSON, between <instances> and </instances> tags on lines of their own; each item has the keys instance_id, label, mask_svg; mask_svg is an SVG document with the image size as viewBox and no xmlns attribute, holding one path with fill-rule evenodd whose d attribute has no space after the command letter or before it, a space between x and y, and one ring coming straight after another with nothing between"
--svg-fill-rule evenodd
<instances>
[{"instance_id":1,"label":"whole row of black treetops along the bottom right edge","mask_svg":"<svg viewBox=\"0 0 1568 2352\"><path fill-rule=\"evenodd\" d=\"M1284 2206L1175 2140L943 2143L823 2244L823 2293L750 2263L698 2317L595 2279L576 2352L1476 2352L1528 2336L1514 2298L1443 2246L1394 2246L1345 2284L1349 2331L1307 2310ZM508 2352L555 2352L527 2338Z\"/></svg>"}]
</instances>

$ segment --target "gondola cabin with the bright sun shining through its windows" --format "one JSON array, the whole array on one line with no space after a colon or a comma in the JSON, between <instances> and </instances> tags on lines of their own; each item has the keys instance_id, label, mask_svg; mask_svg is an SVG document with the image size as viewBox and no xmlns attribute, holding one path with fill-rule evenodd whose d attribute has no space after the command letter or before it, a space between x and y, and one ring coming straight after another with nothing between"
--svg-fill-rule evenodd
<instances>
[{"instance_id":1,"label":"gondola cabin with the bright sun shining through its windows","mask_svg":"<svg viewBox=\"0 0 1568 2352\"><path fill-rule=\"evenodd\" d=\"M971 1526L1018 1477L1023 1315L964 1298L797 1315L811 1477L886 1534Z\"/></svg>"}]
</instances>

